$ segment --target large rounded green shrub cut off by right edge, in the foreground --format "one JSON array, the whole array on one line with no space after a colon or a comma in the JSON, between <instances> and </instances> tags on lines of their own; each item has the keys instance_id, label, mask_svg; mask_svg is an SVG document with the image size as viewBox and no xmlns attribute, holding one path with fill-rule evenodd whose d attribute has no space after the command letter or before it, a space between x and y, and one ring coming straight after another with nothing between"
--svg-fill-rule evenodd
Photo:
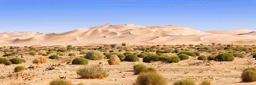
<instances>
[{"instance_id":1,"label":"large rounded green shrub cut off by right edge, in the foreground","mask_svg":"<svg viewBox=\"0 0 256 85\"><path fill-rule=\"evenodd\" d=\"M256 81L256 72L254 70L244 70L242 72L242 81L244 82Z\"/></svg>"}]
</instances>

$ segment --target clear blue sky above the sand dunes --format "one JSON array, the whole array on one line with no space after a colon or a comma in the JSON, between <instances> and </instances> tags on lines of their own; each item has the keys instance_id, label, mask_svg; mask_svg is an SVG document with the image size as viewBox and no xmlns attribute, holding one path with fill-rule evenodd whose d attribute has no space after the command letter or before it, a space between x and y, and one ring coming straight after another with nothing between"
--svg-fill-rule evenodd
<instances>
[{"instance_id":1,"label":"clear blue sky above the sand dunes","mask_svg":"<svg viewBox=\"0 0 256 85\"><path fill-rule=\"evenodd\" d=\"M104 24L256 30L256 0L0 0L0 32L64 32Z\"/></svg>"}]
</instances>

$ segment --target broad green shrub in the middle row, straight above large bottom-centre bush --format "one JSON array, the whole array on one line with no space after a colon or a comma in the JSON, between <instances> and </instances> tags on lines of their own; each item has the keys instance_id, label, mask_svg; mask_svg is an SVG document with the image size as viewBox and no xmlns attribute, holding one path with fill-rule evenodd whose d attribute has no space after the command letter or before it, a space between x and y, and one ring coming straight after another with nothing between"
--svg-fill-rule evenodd
<instances>
[{"instance_id":1,"label":"broad green shrub in the middle row, straight above large bottom-centre bush","mask_svg":"<svg viewBox=\"0 0 256 85\"><path fill-rule=\"evenodd\" d=\"M159 60L158 55L155 54L151 54L151 55L147 55L145 57L143 57L143 62L154 62L154 61L158 61Z\"/></svg>"}]
</instances>

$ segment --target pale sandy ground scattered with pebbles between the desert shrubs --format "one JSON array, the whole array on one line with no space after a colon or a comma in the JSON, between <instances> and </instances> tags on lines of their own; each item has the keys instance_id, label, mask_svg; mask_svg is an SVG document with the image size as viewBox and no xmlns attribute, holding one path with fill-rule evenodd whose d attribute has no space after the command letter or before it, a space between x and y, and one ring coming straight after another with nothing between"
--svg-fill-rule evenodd
<instances>
[{"instance_id":1,"label":"pale sandy ground scattered with pebbles between the desert shrubs","mask_svg":"<svg viewBox=\"0 0 256 85\"><path fill-rule=\"evenodd\" d=\"M110 50L110 49L108 49ZM118 49L114 49L115 52L118 52ZM193 50L193 49L191 49ZM217 50L216 52L218 52ZM225 50L222 50L225 51ZM119 52L119 53L123 53ZM132 53L140 53L142 51L134 50ZM2 56L4 53L0 52ZM78 51L67 51L68 53L79 53ZM152 52L153 53L153 52ZM155 53L155 52L154 52ZM211 52L212 53L212 52ZM56 54L56 52L54 53ZM51 54L51 55L54 55ZM209 55L210 53L201 53L201 55ZM168 53L166 55L177 55L175 53ZM50 81L54 79L59 79L60 77L66 77L66 80L69 80L75 84L85 83L89 85L94 84L125 84L130 85L136 81L138 75L134 75L133 65L135 64L144 64L148 67L154 67L157 69L157 72L163 75L168 81L169 85L172 85L175 81L181 79L191 79L199 84L203 80L209 80L213 85L215 84L226 84L226 85L253 85L256 82L241 82L241 73L243 69L246 67L253 67L255 65L255 60L250 56L250 53L243 53L244 58L235 58L234 61L231 62L217 62L217 61L202 61L197 60L195 57L191 57L188 60L182 60L179 63L168 63L165 61L157 61L152 63L144 63L142 62L142 58L140 58L139 62L127 62L121 61L118 65L105 65L108 64L108 59L103 60L89 60L89 64L86 66L98 64L102 66L104 69L108 69L109 76L104 79L83 79L78 77L76 71L83 65L72 65L66 64L67 61L72 61L74 58L69 58L69 56L63 56L61 59L48 59L49 63L41 63L41 64L33 64L33 58L41 55L31 56L27 54L17 54L14 56L6 57L7 59L13 57L23 57L27 62L21 64L12 64L10 66L5 66L4 64L0 65L0 84L1 85L48 85ZM50 56L50 55L49 55ZM77 54L76 57L83 56ZM46 57L48 58L48 56ZM102 62L102 64L99 64ZM191 64L195 65L191 65ZM60 64L60 65L58 65ZM24 80L22 77L18 77L16 79L15 76L7 77L6 74L14 73L14 67L17 65L23 65L26 68L31 65L34 66L34 69L26 69L23 73L31 74L31 78ZM50 65L54 66L53 70L46 70ZM62 73L61 73L62 72ZM188 72L185 74L185 72ZM14 73L16 74L16 73ZM124 76L124 74L126 74ZM2 77L1 77L2 76ZM3 78L4 77L4 78ZM29 80L30 79L30 80ZM114 79L114 81L110 81L110 79ZM116 80L115 80L116 79ZM3 83L4 81L5 83Z\"/></svg>"}]
</instances>

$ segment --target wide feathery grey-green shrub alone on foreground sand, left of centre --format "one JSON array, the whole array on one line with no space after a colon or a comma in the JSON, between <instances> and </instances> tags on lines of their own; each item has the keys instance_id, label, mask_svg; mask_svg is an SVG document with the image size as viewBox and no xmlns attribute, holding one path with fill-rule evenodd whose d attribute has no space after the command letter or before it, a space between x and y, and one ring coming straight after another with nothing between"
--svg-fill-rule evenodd
<instances>
[{"instance_id":1,"label":"wide feathery grey-green shrub alone on foreground sand, left of centre","mask_svg":"<svg viewBox=\"0 0 256 85\"><path fill-rule=\"evenodd\" d=\"M107 70L98 65L91 65L90 67L83 66L77 70L77 74L84 78L104 78L109 76Z\"/></svg>"}]
</instances>

